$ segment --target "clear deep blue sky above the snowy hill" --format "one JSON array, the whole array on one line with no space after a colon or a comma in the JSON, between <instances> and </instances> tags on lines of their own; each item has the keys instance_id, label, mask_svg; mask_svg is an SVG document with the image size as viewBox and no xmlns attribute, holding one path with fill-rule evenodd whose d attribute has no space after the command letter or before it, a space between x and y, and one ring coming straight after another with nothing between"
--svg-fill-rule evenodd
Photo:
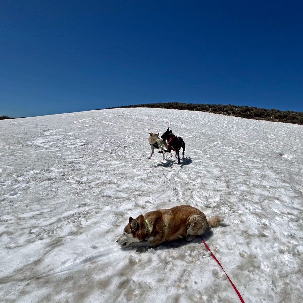
<instances>
[{"instance_id":1,"label":"clear deep blue sky above the snowy hill","mask_svg":"<svg viewBox=\"0 0 303 303\"><path fill-rule=\"evenodd\" d=\"M186 102L303 111L302 1L0 2L0 115Z\"/></svg>"}]
</instances>

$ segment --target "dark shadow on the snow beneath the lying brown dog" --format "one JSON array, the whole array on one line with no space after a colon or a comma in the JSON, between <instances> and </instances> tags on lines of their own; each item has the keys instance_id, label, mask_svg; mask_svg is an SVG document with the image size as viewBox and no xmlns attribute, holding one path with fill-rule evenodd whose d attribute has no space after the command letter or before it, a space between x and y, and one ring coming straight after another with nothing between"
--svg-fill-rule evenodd
<instances>
[{"instance_id":1,"label":"dark shadow on the snow beneath the lying brown dog","mask_svg":"<svg viewBox=\"0 0 303 303\"><path fill-rule=\"evenodd\" d=\"M208 241L213 236L213 231L205 231L202 238L204 241ZM191 243L198 243L201 244L201 249L206 249L203 245L202 239L200 236L197 236L192 241L186 241L185 238L175 241L168 241L161 243L156 249L157 250L165 250L165 249L176 249L182 246L190 245ZM121 250L135 250L137 252L147 252L151 247L150 246L128 246L126 248L121 247Z\"/></svg>"}]
</instances>

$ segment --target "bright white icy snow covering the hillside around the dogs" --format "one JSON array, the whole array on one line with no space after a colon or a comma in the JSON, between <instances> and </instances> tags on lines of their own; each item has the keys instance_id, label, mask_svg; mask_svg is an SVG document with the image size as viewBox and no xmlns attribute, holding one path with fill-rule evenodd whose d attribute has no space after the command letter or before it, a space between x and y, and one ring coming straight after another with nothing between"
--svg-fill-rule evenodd
<instances>
[{"instance_id":1,"label":"bright white icy snow covering the hillside around the dogs","mask_svg":"<svg viewBox=\"0 0 303 303\"><path fill-rule=\"evenodd\" d=\"M185 160L155 152L170 126ZM302 125L118 108L0 121L1 302L240 302L196 238L123 249L128 223L189 204L248 302L302 302Z\"/></svg>"}]
</instances>

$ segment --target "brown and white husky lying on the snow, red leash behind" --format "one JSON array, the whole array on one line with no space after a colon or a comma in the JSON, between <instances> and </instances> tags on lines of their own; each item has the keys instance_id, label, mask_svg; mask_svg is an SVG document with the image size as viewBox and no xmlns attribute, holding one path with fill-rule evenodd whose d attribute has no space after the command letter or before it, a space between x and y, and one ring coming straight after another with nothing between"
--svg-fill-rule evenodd
<instances>
[{"instance_id":1,"label":"brown and white husky lying on the snow, red leash behind","mask_svg":"<svg viewBox=\"0 0 303 303\"><path fill-rule=\"evenodd\" d=\"M204 213L190 205L180 205L169 209L159 209L129 217L122 235L118 238L119 245L124 247L158 246L165 241L185 238L191 241L197 235L203 235L211 226L219 226L223 216L215 215L206 220Z\"/></svg>"}]
</instances>

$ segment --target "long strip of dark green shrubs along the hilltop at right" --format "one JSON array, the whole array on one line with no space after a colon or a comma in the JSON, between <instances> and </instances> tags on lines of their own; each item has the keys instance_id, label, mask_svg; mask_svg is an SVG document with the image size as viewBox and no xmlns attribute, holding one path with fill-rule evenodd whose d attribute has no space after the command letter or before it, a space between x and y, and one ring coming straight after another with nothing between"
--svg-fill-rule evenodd
<instances>
[{"instance_id":1,"label":"long strip of dark green shrubs along the hilltop at right","mask_svg":"<svg viewBox=\"0 0 303 303\"><path fill-rule=\"evenodd\" d=\"M220 114L226 116L234 116L255 120L266 120L273 122L285 122L303 125L303 112L280 111L278 109L266 109L255 106L238 106L238 105L224 105L224 104L193 104L193 103L148 103L140 105L117 106L112 108L125 107L154 107L154 108L171 108L182 109L197 112L209 112L212 114ZM108 108L109 109L109 108Z\"/></svg>"}]
</instances>

